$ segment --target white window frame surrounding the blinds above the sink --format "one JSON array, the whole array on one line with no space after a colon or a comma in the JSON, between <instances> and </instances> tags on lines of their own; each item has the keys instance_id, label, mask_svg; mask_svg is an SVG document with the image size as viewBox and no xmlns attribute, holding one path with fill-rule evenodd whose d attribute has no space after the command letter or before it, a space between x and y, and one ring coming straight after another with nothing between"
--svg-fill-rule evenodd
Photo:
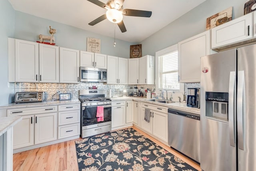
<instances>
[{"instance_id":1,"label":"white window frame surrounding the blinds above the sink","mask_svg":"<svg viewBox=\"0 0 256 171\"><path fill-rule=\"evenodd\" d=\"M160 56L164 56L164 55L166 55L166 54L170 54L170 53L172 53L172 52L174 52L174 51L177 51L178 50L178 44L175 44L175 45L172 45L172 46L170 46L170 47L168 47L168 48L165 48L165 49L162 49L162 50L159 50L159 51L157 51L156 52L156 67L155 67L155 83L156 83L156 89L157 90L162 90L162 89L158 89L158 57L160 57ZM171 89L168 89L168 90L170 90L170 91L177 91L177 90L171 90ZM178 92L184 92L184 84L183 83L180 83L180 90L178 90Z\"/></svg>"}]
</instances>

